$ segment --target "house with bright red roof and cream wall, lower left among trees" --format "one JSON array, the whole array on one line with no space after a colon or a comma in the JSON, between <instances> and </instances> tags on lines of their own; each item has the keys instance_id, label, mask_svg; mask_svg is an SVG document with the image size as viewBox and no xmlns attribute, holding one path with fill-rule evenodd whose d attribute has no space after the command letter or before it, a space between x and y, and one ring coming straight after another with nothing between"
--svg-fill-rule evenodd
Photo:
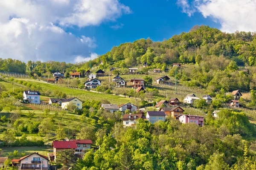
<instances>
[{"instance_id":1,"label":"house with bright red roof and cream wall, lower left among trees","mask_svg":"<svg viewBox=\"0 0 256 170\"><path fill-rule=\"evenodd\" d=\"M68 149L70 151L75 151L77 148L76 142L74 141L53 141L53 154L48 154L51 160L57 158L57 153L61 150Z\"/></svg>"}]
</instances>

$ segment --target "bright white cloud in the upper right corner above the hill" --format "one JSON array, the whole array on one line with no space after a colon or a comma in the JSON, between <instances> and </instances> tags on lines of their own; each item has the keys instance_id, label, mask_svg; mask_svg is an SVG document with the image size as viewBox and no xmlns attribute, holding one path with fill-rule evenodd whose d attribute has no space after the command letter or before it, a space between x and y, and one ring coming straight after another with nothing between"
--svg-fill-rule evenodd
<instances>
[{"instance_id":1,"label":"bright white cloud in the upper right corner above the hill","mask_svg":"<svg viewBox=\"0 0 256 170\"><path fill-rule=\"evenodd\" d=\"M211 17L221 24L221 30L226 32L256 31L256 1L255 0L193 0L185 1L183 8L189 16L191 12L200 12L204 17ZM196 10L195 10L196 9Z\"/></svg>"}]
</instances>

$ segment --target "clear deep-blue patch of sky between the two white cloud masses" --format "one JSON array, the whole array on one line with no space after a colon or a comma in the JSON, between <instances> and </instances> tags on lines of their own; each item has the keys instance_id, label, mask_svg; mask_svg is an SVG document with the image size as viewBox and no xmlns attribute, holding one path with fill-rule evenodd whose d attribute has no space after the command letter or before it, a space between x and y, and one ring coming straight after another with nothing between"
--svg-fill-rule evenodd
<instances>
[{"instance_id":1,"label":"clear deep-blue patch of sky between the two white cloud masses","mask_svg":"<svg viewBox=\"0 0 256 170\"><path fill-rule=\"evenodd\" d=\"M153 41L162 41L183 31L187 32L195 25L204 24L221 28L219 23L204 18L201 13L195 12L191 17L182 13L175 0L121 0L120 2L129 6L132 13L123 14L115 22L84 28L69 28L67 31L77 36L94 37L96 48L91 51L102 55L121 43L148 37ZM122 28L113 29L111 26L122 26Z\"/></svg>"}]
</instances>

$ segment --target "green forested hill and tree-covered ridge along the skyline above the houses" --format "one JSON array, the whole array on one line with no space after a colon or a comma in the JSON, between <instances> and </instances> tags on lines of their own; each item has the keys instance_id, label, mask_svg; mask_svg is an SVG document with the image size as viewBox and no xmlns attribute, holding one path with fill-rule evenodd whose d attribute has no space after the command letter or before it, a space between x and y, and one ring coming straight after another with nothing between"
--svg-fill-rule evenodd
<instances>
[{"instance_id":1,"label":"green forested hill and tree-covered ridge along the skyline above the houses","mask_svg":"<svg viewBox=\"0 0 256 170\"><path fill-rule=\"evenodd\" d=\"M233 87L249 91L256 84L253 80L256 69L250 67L256 65L255 48L256 35L251 32L237 31L229 34L209 26L194 26L188 33L183 32L163 42L140 39L115 46L106 54L93 59L91 64L95 69L119 68L116 73L125 72L127 69L124 68L138 66L143 62L150 66L142 70L144 72L152 68L164 69L175 62L195 64L180 70L179 79L186 81L187 85L205 88L210 85L210 89L226 90ZM100 61L103 65L99 65ZM249 67L244 69L239 66ZM35 77L47 77L54 71L64 71L68 77L72 71L84 72L89 67L89 62L66 64L54 61L23 63L12 59L0 60L0 70L27 73Z\"/></svg>"}]
</instances>

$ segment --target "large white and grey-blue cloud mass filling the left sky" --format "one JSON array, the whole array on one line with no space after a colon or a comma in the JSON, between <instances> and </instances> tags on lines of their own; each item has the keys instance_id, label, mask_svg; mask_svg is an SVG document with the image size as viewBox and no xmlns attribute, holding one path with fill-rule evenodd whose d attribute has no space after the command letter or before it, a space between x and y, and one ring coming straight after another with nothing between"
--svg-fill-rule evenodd
<instances>
[{"instance_id":1,"label":"large white and grey-blue cloud mass filling the left sky","mask_svg":"<svg viewBox=\"0 0 256 170\"><path fill-rule=\"evenodd\" d=\"M73 62L96 44L67 33L66 26L99 25L130 12L118 0L1 0L0 57Z\"/></svg>"}]
</instances>

